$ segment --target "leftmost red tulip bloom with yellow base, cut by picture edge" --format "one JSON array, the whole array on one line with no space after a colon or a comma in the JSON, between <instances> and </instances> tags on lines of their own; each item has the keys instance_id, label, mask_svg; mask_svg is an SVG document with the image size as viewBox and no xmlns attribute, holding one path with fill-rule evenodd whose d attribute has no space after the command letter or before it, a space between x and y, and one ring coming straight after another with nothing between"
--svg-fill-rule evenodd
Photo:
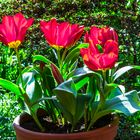
<instances>
[{"instance_id":1,"label":"leftmost red tulip bloom with yellow base, cut by picture edge","mask_svg":"<svg viewBox=\"0 0 140 140\"><path fill-rule=\"evenodd\" d=\"M17 49L32 23L32 18L26 19L21 13L4 16L0 24L0 41L10 48Z\"/></svg>"}]
</instances>

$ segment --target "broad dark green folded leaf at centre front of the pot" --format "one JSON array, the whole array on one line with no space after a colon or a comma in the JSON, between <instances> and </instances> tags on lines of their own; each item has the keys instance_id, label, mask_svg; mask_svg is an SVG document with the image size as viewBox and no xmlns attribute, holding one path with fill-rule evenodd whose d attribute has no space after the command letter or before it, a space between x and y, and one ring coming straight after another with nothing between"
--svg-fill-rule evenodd
<instances>
[{"instance_id":1,"label":"broad dark green folded leaf at centre front of the pot","mask_svg":"<svg viewBox=\"0 0 140 140\"><path fill-rule=\"evenodd\" d=\"M89 103L91 97L84 93L77 93L76 84L73 79L60 84L54 89L54 93L59 100L60 109L64 116L74 126L83 116L85 105Z\"/></svg>"}]
</instances>

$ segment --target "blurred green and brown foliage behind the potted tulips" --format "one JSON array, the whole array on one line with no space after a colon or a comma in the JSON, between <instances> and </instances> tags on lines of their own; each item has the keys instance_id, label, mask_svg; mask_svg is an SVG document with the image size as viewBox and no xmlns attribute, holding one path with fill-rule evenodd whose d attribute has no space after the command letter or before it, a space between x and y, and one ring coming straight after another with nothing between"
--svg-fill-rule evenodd
<instances>
[{"instance_id":1,"label":"blurred green and brown foliage behind the potted tulips","mask_svg":"<svg viewBox=\"0 0 140 140\"><path fill-rule=\"evenodd\" d=\"M119 35L121 65L140 64L139 0L0 0L0 8L1 19L4 15L13 15L17 12L22 12L26 17L35 19L34 25L28 31L20 49L24 66L31 64L32 54L43 54L53 59L39 29L40 20L50 20L52 17L57 18L60 22L66 20L70 23L85 25L86 30L89 30L91 25L106 25L115 28ZM15 81L17 75L14 52L0 44L0 76ZM127 91L132 88L140 90L139 71L134 71L131 75L127 73L125 77L128 78L119 83L125 84ZM1 139L14 139L11 124L14 117L20 112L15 98L12 93L8 94L7 91L0 90ZM139 115L140 113L133 117L121 117L118 139L132 140L140 137L140 128L137 125L140 123Z\"/></svg>"}]
</instances>

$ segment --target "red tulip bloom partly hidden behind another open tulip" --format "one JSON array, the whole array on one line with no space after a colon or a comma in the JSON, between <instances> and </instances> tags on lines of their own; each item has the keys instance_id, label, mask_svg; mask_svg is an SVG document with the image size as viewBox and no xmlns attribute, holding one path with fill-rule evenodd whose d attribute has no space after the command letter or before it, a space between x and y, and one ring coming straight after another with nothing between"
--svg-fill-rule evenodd
<instances>
[{"instance_id":1,"label":"red tulip bloom partly hidden behind another open tulip","mask_svg":"<svg viewBox=\"0 0 140 140\"><path fill-rule=\"evenodd\" d=\"M87 32L84 39L85 42L89 42L89 39L91 39L95 45L100 44L104 46L107 40L118 42L118 35L113 28L97 28L92 26L90 33Z\"/></svg>"}]
</instances>

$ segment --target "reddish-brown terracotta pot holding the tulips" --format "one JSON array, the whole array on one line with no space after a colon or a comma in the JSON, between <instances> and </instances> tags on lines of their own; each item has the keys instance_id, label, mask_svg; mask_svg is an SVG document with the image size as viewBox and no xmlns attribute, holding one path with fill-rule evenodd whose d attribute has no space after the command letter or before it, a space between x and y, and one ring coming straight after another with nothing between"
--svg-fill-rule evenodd
<instances>
[{"instance_id":1,"label":"reddish-brown terracotta pot holding the tulips","mask_svg":"<svg viewBox=\"0 0 140 140\"><path fill-rule=\"evenodd\" d=\"M114 140L119 122L118 118L115 118L113 123L92 131L73 134L51 134L22 128L20 122L26 121L28 117L25 114L21 116L16 117L13 123L17 140Z\"/></svg>"}]
</instances>

